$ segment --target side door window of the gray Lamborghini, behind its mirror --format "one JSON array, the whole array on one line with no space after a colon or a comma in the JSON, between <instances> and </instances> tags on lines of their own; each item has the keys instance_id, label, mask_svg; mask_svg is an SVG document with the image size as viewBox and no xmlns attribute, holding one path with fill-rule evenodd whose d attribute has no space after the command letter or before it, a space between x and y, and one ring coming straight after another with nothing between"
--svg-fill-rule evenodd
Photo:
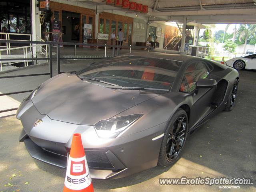
<instances>
[{"instance_id":1,"label":"side door window of the gray Lamborghini, behind its mirror","mask_svg":"<svg viewBox=\"0 0 256 192\"><path fill-rule=\"evenodd\" d=\"M188 82L190 92L196 88L196 82L201 78L206 78L209 74L206 64L202 61L190 64L185 71L185 78Z\"/></svg>"}]
</instances>

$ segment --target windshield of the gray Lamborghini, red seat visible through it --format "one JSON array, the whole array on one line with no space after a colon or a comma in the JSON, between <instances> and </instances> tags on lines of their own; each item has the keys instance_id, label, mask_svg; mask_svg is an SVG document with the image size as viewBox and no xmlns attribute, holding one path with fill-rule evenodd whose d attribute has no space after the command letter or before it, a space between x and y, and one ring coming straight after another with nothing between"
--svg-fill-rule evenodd
<instances>
[{"instance_id":1,"label":"windshield of the gray Lamborghini, red seat visible through it","mask_svg":"<svg viewBox=\"0 0 256 192\"><path fill-rule=\"evenodd\" d=\"M118 56L76 74L116 86L171 89L182 62L141 56Z\"/></svg>"}]
</instances>

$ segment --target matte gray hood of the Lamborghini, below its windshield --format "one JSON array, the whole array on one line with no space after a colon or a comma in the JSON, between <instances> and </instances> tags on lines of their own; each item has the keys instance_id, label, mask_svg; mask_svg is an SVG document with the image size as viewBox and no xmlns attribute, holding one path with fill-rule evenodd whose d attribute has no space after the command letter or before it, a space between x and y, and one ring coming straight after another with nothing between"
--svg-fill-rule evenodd
<instances>
[{"instance_id":1,"label":"matte gray hood of the Lamborghini, below its windshield","mask_svg":"<svg viewBox=\"0 0 256 192\"><path fill-rule=\"evenodd\" d=\"M139 90L114 90L97 83L61 74L43 83L32 102L40 114L53 120L94 125L158 96Z\"/></svg>"}]
</instances>

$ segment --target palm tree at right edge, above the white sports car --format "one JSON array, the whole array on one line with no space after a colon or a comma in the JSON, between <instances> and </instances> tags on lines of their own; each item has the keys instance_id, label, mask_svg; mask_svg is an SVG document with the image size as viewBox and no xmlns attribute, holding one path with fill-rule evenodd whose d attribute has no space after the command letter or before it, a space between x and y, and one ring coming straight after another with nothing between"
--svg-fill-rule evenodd
<instances>
[{"instance_id":1,"label":"palm tree at right edge, above the white sports car","mask_svg":"<svg viewBox=\"0 0 256 192\"><path fill-rule=\"evenodd\" d=\"M256 24L241 24L238 29L238 38L239 41L242 41L244 39L244 53L246 49L247 40L250 36L255 36L256 34Z\"/></svg>"}]
</instances>

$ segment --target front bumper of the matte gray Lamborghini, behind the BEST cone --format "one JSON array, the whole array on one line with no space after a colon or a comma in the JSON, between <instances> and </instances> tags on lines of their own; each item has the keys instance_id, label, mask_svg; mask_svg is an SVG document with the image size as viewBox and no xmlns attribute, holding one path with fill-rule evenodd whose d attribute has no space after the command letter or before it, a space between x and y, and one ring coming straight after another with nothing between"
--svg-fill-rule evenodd
<instances>
[{"instance_id":1,"label":"front bumper of the matte gray Lamborghini, behind the BEST cone","mask_svg":"<svg viewBox=\"0 0 256 192\"><path fill-rule=\"evenodd\" d=\"M152 138L164 132L166 123L130 136L106 139L98 138L93 126L52 120L40 114L31 101L22 105L17 112L24 127L20 141L35 159L66 168L72 135L80 133L92 178L121 178L157 165L162 138ZM34 127L38 119L43 122Z\"/></svg>"}]
</instances>

